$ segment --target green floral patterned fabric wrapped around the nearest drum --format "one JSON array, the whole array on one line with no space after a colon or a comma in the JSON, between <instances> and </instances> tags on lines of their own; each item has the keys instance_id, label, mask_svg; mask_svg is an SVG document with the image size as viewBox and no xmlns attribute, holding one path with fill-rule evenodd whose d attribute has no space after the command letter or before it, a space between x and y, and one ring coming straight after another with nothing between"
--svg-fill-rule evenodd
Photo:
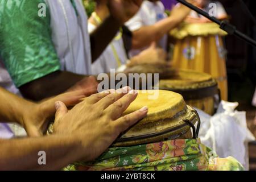
<instances>
[{"instance_id":1,"label":"green floral patterned fabric wrapped around the nearest drum","mask_svg":"<svg viewBox=\"0 0 256 182\"><path fill-rule=\"evenodd\" d=\"M200 139L177 139L109 148L94 162L71 164L64 170L237 171L243 167L232 157L218 158Z\"/></svg>"}]
</instances>

